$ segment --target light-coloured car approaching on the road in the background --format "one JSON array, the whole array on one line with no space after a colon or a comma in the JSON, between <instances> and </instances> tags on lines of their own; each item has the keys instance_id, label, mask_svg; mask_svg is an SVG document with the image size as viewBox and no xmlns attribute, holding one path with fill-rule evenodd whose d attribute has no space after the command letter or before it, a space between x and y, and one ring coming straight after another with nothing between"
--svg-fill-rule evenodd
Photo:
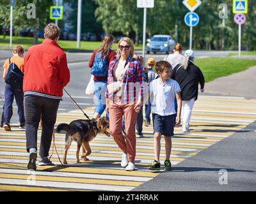
<instances>
[{"instance_id":1,"label":"light-coloured car approaching on the road in the background","mask_svg":"<svg viewBox=\"0 0 256 204\"><path fill-rule=\"evenodd\" d=\"M173 51L173 47L175 46L175 40L173 40L170 35L166 34L156 34L147 41L147 54L150 54L150 52L154 52L154 54L156 54L156 52L169 54Z\"/></svg>"}]
</instances>

